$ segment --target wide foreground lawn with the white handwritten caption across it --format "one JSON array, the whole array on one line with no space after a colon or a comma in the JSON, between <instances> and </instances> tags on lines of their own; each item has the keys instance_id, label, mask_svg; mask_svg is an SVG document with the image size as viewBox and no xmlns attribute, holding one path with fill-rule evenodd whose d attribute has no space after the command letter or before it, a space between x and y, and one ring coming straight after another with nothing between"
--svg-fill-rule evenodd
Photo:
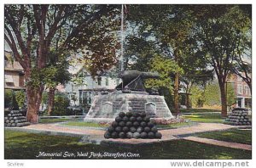
<instances>
[{"instance_id":1,"label":"wide foreground lawn with the white handwritten caption across it","mask_svg":"<svg viewBox=\"0 0 256 168\"><path fill-rule=\"evenodd\" d=\"M73 153L78 152L108 152L108 153L133 153L139 154L139 158L117 159L236 159L249 160L252 158L251 151L224 148L203 143L195 143L186 140L176 140L164 143L145 144L134 148L113 148L90 143L79 143L80 137L49 136L27 132L15 132L5 130L4 158L6 160L19 159L88 159L88 157L39 157L39 152L45 153ZM96 159L96 158L93 158ZM113 159L113 158L102 158Z\"/></svg>"}]
</instances>

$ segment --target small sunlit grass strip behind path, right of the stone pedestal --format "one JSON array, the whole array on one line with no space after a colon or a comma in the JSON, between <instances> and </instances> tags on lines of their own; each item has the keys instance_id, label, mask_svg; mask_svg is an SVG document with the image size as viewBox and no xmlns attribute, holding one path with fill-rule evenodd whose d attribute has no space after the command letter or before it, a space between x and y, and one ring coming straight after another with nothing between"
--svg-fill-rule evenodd
<instances>
[{"instance_id":1,"label":"small sunlit grass strip behind path, right of the stone pedestal","mask_svg":"<svg viewBox=\"0 0 256 168\"><path fill-rule=\"evenodd\" d=\"M196 114L196 115L183 115L186 119L189 119L194 122L215 122L222 123L224 118L217 113L208 113L208 114Z\"/></svg>"}]
</instances>

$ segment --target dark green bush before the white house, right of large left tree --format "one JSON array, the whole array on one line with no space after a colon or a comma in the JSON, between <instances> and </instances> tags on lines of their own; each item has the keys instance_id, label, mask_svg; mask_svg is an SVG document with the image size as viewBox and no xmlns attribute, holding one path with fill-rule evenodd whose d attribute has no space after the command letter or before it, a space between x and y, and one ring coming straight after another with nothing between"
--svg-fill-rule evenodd
<instances>
[{"instance_id":1,"label":"dark green bush before the white house, right of large left tree","mask_svg":"<svg viewBox=\"0 0 256 168\"><path fill-rule=\"evenodd\" d=\"M68 115L69 99L63 94L55 95L55 106L51 115Z\"/></svg>"}]
</instances>

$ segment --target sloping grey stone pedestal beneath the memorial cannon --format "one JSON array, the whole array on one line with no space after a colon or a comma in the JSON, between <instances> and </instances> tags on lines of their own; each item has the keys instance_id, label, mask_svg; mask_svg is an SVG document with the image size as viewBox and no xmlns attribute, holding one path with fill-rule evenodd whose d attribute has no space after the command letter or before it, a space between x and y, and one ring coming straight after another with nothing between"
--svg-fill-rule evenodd
<instances>
[{"instance_id":1,"label":"sloping grey stone pedestal beneath the memorial cannon","mask_svg":"<svg viewBox=\"0 0 256 168\"><path fill-rule=\"evenodd\" d=\"M154 118L173 118L163 96L148 95L148 92L115 91L97 95L84 121L113 121L120 112L146 112Z\"/></svg>"}]
</instances>

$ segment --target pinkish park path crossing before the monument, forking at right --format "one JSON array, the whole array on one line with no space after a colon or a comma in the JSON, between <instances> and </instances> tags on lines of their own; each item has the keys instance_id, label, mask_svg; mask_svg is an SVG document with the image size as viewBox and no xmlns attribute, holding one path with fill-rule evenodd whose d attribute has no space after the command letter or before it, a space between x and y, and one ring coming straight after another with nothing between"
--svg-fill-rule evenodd
<instances>
[{"instance_id":1,"label":"pinkish park path crossing before the monument, forking at right","mask_svg":"<svg viewBox=\"0 0 256 168\"><path fill-rule=\"evenodd\" d=\"M23 131L23 132L32 132L32 133L45 133L49 135L64 135L64 136L83 136L82 141L84 143L109 143L109 144L118 144L120 146L131 145L131 144L145 144L145 143L157 143L162 141L170 141L175 139L186 139L189 141L198 141L200 143L210 143L213 144L214 141L210 141L206 138L191 137L195 133L199 132L213 132L227 130L230 128L243 128L246 126L230 126L220 123L198 123L195 126L180 127L176 129L166 129L160 130L162 134L161 139L105 139L103 137L104 130L93 127L84 127L84 126L63 126L61 123L49 123L49 124L35 124L24 127L10 127L6 129ZM218 143L215 142L215 145L223 144L228 147L241 147L250 148L245 145L236 145L233 143Z\"/></svg>"}]
</instances>

